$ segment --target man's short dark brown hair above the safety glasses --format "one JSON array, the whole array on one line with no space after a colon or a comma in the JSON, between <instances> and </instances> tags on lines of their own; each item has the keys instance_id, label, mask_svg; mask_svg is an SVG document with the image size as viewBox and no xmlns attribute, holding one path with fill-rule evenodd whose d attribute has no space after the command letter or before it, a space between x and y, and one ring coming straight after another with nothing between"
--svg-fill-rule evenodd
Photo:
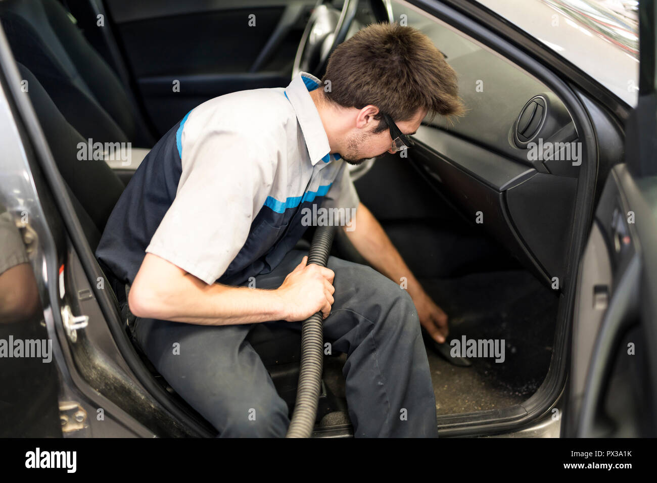
<instances>
[{"instance_id":1,"label":"man's short dark brown hair above the safety glasses","mask_svg":"<svg viewBox=\"0 0 657 483\"><path fill-rule=\"evenodd\" d=\"M343 107L378 107L374 132L388 129L381 112L409 121L420 108L462 116L456 72L426 35L399 24L371 24L344 41L330 55L322 83L324 97Z\"/></svg>"}]
</instances>

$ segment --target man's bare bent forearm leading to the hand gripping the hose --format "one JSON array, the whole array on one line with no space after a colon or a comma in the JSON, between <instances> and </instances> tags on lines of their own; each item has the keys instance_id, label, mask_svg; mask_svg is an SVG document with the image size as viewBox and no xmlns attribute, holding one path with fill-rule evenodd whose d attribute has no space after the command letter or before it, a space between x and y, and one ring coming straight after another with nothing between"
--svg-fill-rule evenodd
<instances>
[{"instance_id":1,"label":"man's bare bent forearm leading to the hand gripping the hose","mask_svg":"<svg viewBox=\"0 0 657 483\"><path fill-rule=\"evenodd\" d=\"M137 317L198 325L236 325L286 317L275 290L208 285L152 254L147 254L135 277L128 305Z\"/></svg>"}]
</instances>

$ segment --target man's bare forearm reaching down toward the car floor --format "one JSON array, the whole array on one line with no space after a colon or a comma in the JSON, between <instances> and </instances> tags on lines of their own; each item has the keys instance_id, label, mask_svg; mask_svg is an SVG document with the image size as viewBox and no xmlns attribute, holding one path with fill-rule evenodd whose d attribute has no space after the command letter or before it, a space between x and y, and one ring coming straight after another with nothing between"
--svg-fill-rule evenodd
<instances>
[{"instance_id":1,"label":"man's bare forearm reaching down toward the car floor","mask_svg":"<svg viewBox=\"0 0 657 483\"><path fill-rule=\"evenodd\" d=\"M362 203L356 210L353 227L353 231L347 231L344 227L344 232L367 262L396 283L401 283L401 277L406 277L409 295L414 296L422 290L383 227Z\"/></svg>"}]
</instances>

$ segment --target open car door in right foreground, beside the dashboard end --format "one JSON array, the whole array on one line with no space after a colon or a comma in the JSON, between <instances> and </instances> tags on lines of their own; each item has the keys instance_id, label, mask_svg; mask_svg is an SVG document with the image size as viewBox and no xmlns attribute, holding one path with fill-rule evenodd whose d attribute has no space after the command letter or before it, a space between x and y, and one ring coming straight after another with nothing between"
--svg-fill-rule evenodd
<instances>
[{"instance_id":1,"label":"open car door in right foreground, beside the dashboard end","mask_svg":"<svg viewBox=\"0 0 657 483\"><path fill-rule=\"evenodd\" d=\"M657 160L654 3L639 11L639 103L579 268L562 434L656 436Z\"/></svg>"}]
</instances>

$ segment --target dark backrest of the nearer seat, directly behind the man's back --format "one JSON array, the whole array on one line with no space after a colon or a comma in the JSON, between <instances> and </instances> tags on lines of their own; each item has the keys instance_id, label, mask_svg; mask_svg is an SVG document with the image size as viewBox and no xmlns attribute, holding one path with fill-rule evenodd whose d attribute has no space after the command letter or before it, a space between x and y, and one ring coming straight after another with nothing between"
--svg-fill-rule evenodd
<instances>
[{"instance_id":1,"label":"dark backrest of the nearer seat, directly behind the man's back","mask_svg":"<svg viewBox=\"0 0 657 483\"><path fill-rule=\"evenodd\" d=\"M18 72L28 81L27 95L69 195L72 195L87 241L95 250L124 184L104 160L78 159L78 144L87 141L66 121L34 74L20 62Z\"/></svg>"}]
</instances>

